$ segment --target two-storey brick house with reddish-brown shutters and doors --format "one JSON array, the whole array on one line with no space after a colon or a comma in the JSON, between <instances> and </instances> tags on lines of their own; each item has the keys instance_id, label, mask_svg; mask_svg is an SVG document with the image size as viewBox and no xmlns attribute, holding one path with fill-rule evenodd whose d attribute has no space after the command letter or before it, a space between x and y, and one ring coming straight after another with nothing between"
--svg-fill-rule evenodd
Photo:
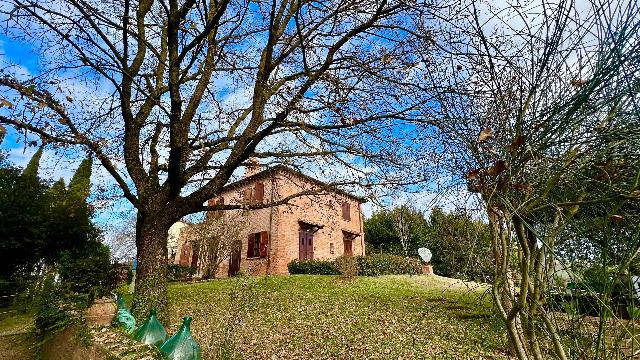
<instances>
[{"instance_id":1,"label":"two-storey brick house with reddish-brown shutters and doors","mask_svg":"<svg viewBox=\"0 0 640 360\"><path fill-rule=\"evenodd\" d=\"M287 205L255 210L227 210L207 216L243 217L239 239L217 269L217 276L233 276L240 269L250 274L287 274L294 259L335 259L364 255L362 203L364 200L286 166L263 171L248 167L245 176L224 187L210 204L270 203L301 192L315 192ZM182 228L175 263L195 266L202 274L206 262L199 255L197 238Z\"/></svg>"}]
</instances>

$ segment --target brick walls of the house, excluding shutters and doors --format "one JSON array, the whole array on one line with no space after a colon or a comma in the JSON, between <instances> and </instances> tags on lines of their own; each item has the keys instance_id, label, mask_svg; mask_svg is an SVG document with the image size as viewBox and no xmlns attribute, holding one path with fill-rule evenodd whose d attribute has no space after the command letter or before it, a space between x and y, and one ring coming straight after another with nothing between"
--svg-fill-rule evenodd
<instances>
[{"instance_id":1,"label":"brick walls of the house, excluding shutters and doors","mask_svg":"<svg viewBox=\"0 0 640 360\"><path fill-rule=\"evenodd\" d=\"M314 184L293 173L280 171L268 174L251 183L242 184L221 194L225 204L242 204L252 200L256 192L256 182L264 186L264 202L277 201L292 194L314 188ZM212 199L211 202L220 201ZM343 219L342 206L349 204L350 220ZM299 256L300 222L321 227L314 233L314 259L334 259L344 253L345 234L356 237L352 241L353 255L364 255L363 217L360 203L353 197L339 193L305 195L290 201L289 205L257 210L231 210L223 212L223 217L242 217L244 228L240 233L240 268L249 274L286 274L287 264ZM249 234L269 232L268 256L247 258ZM180 237L178 249L182 248ZM331 252L333 244L333 253ZM179 261L176 254L176 263ZM202 264L200 264L202 265ZM217 276L227 275L229 261L224 260Z\"/></svg>"}]
</instances>

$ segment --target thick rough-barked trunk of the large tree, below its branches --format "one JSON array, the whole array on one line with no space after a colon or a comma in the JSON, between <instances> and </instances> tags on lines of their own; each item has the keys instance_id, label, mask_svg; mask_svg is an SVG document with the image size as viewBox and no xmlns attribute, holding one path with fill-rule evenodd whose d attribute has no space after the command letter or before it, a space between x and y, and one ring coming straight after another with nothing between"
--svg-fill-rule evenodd
<instances>
[{"instance_id":1,"label":"thick rough-barked trunk of the large tree, below its branches","mask_svg":"<svg viewBox=\"0 0 640 360\"><path fill-rule=\"evenodd\" d=\"M170 222L162 215L138 213L136 221L136 247L138 268L133 301L133 314L142 321L151 308L161 321L167 313L167 234Z\"/></svg>"}]
</instances>

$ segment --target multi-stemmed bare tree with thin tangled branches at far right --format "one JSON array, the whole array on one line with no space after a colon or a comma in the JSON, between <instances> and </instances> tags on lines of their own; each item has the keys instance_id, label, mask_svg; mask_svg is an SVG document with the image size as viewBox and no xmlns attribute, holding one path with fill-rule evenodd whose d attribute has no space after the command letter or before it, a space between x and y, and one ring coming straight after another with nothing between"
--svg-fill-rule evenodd
<instances>
[{"instance_id":1,"label":"multi-stemmed bare tree with thin tangled branches at far right","mask_svg":"<svg viewBox=\"0 0 640 360\"><path fill-rule=\"evenodd\" d=\"M638 215L639 5L578 5L443 4L447 20L422 29L438 60L426 66L423 110L441 140L434 152L486 206L493 296L520 359L573 352L547 306L557 247L580 236L566 230ZM576 353L608 357L600 341L584 344Z\"/></svg>"}]
</instances>

